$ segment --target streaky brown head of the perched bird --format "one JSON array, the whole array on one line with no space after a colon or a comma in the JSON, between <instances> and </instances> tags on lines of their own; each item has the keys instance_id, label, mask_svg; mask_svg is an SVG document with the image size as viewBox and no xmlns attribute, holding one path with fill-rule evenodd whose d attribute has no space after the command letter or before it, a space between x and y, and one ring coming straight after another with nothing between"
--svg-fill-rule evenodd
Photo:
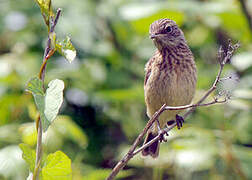
<instances>
[{"instance_id":1,"label":"streaky brown head of the perched bird","mask_svg":"<svg viewBox=\"0 0 252 180\"><path fill-rule=\"evenodd\" d=\"M155 46L161 50L164 47L177 46L185 41L184 33L177 24L170 19L159 19L150 25L150 38Z\"/></svg>"}]
</instances>

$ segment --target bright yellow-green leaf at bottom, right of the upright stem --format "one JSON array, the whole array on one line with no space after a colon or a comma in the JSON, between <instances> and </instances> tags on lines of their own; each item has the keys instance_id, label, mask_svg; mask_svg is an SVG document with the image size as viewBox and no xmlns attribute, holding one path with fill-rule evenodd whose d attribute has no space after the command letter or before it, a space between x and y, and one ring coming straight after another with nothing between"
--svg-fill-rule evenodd
<instances>
[{"instance_id":1,"label":"bright yellow-green leaf at bottom, right of the upright stem","mask_svg":"<svg viewBox=\"0 0 252 180\"><path fill-rule=\"evenodd\" d=\"M49 154L42 168L42 180L71 180L71 159L61 151Z\"/></svg>"}]
</instances>

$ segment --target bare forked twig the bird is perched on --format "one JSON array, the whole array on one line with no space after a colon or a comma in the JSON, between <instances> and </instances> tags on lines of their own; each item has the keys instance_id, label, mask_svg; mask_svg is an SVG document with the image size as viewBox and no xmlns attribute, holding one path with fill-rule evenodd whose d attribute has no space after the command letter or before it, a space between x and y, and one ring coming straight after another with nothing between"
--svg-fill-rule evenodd
<instances>
[{"instance_id":1,"label":"bare forked twig the bird is perched on","mask_svg":"<svg viewBox=\"0 0 252 180\"><path fill-rule=\"evenodd\" d=\"M171 106L166 106L165 104L152 116L152 118L148 121L148 123L146 124L144 130L139 134L139 136L136 138L136 140L134 141L133 145L131 146L130 150L127 152L126 155L124 155L124 157L116 164L116 166L113 168L112 172L110 173L110 175L108 176L107 180L112 180L115 178L115 176L120 172L120 170L123 169L123 167L128 163L128 161L133 158L136 154L138 154L139 152L141 152L144 148L150 146L152 143L154 143L155 141L161 140L161 138L163 137L163 135L167 134L171 129L173 129L176 126L176 123L173 123L171 126L169 126L168 128L164 128L161 130L161 132L158 134L158 136L156 136L155 138L153 138L151 141L149 141L148 143L144 144L142 147L140 147L139 149L136 150L137 146L139 145L141 139L143 138L143 136L146 134L146 132L149 130L149 128L152 126L152 124L158 119L158 117L166 110L183 110L183 109L190 109L189 111L187 111L183 118L185 119L187 116L189 116L197 107L199 106L209 106L209 105L213 105L213 104L217 104L217 103L224 103L227 101L227 98L225 98L224 100L218 100L218 98L215 98L213 101L209 102L209 103L202 103L204 100L206 100L206 98L216 90L217 84L220 81L220 77L223 71L223 68L226 64L226 62L228 60L230 60L230 58L232 57L232 55L234 54L234 51L239 47L239 43L232 45L231 42L229 42L229 46L228 46L228 51L226 54L224 54L224 51L222 49L222 47L220 47L219 52L218 52L218 58L219 58L219 62L220 62L220 69L218 71L218 74L216 76L216 79L213 83L213 85L211 86L211 88L205 93L205 95L195 104L192 105L185 105L185 106L178 106L178 107L171 107Z\"/></svg>"}]
</instances>

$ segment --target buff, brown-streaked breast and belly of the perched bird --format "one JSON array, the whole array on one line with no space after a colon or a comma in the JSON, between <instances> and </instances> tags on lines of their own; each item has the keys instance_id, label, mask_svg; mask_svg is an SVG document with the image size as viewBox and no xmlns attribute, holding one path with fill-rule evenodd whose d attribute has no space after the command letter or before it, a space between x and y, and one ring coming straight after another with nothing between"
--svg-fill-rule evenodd
<instances>
[{"instance_id":1,"label":"buff, brown-streaked breast and belly of the perched bird","mask_svg":"<svg viewBox=\"0 0 252 180\"><path fill-rule=\"evenodd\" d=\"M160 59L159 59L160 60ZM148 114L155 113L164 103L169 106L189 104L194 96L196 67L187 61L158 61L152 63L144 86Z\"/></svg>"}]
</instances>

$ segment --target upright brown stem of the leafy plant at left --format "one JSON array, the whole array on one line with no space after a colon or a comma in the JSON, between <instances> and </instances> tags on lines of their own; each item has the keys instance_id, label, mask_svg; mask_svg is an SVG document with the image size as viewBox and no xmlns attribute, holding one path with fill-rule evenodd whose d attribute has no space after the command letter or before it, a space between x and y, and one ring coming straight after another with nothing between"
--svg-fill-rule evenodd
<instances>
[{"instance_id":1,"label":"upright brown stem of the leafy plant at left","mask_svg":"<svg viewBox=\"0 0 252 180\"><path fill-rule=\"evenodd\" d=\"M51 28L50 28L48 38L47 38L46 48L45 48L45 51L44 51L43 62L42 62L42 65L40 67L40 71L39 71L39 75L38 75L39 79L42 80L43 86L44 86L45 69L46 69L47 60L55 52L54 49L51 49L50 33L54 32L54 29L55 29L55 26L56 26L56 24L58 22L60 14L61 14L61 9L58 9L57 13L56 13L56 17L55 17L55 19L53 20L53 22L51 24ZM42 158L42 133L43 133L43 127L42 127L40 117L38 117L36 123L38 125L37 126L38 136L37 136L36 162L35 162L35 169L34 169L34 172L33 172L33 180L38 180L39 179L40 163L41 163L41 158Z\"/></svg>"}]
</instances>

